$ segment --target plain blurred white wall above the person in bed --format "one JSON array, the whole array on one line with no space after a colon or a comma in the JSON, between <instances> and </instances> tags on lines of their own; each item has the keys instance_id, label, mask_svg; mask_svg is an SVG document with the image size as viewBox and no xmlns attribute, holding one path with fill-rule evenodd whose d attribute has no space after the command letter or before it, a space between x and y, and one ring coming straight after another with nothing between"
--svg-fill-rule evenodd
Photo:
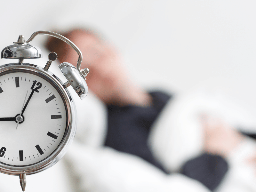
<instances>
[{"instance_id":1,"label":"plain blurred white wall above the person in bed","mask_svg":"<svg viewBox=\"0 0 256 192\"><path fill-rule=\"evenodd\" d=\"M91 28L119 50L145 88L218 90L256 115L255 8L255 1L231 0L4 1L1 46L37 30Z\"/></svg>"}]
</instances>

